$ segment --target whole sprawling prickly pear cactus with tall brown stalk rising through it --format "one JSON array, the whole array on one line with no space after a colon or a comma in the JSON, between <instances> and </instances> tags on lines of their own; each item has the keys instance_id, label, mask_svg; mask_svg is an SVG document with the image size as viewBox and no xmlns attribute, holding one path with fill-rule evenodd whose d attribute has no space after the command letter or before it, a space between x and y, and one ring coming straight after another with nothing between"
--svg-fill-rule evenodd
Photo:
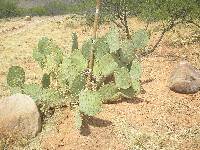
<instances>
[{"instance_id":1,"label":"whole sprawling prickly pear cactus with tall brown stalk rising through it","mask_svg":"<svg viewBox=\"0 0 200 150\"><path fill-rule=\"evenodd\" d=\"M100 3L97 4L99 9ZM67 56L51 39L42 38L33 50L33 58L44 71L42 85L20 86L23 93L51 108L70 95L76 104L78 128L83 115L96 115L102 110L102 103L133 98L140 92L141 67L135 50L146 46L147 33L139 30L131 39L123 40L112 27L105 36L96 38L97 21L98 13L93 38L85 41L82 48L78 48L77 36L72 34L72 50Z\"/></svg>"}]
</instances>

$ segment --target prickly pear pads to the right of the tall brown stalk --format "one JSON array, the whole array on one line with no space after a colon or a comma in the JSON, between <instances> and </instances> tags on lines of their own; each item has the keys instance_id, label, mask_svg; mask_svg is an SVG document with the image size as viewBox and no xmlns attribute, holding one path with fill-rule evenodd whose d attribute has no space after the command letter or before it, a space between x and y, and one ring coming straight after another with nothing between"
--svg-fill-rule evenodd
<instances>
[{"instance_id":1,"label":"prickly pear pads to the right of the tall brown stalk","mask_svg":"<svg viewBox=\"0 0 200 150\"><path fill-rule=\"evenodd\" d=\"M97 39L93 74L95 79L101 83L97 84L103 101L112 100L112 97L116 95L132 98L139 93L141 67L136 59L135 50L146 46L147 37L144 30L139 30L133 34L132 39L121 40L117 29L112 28L105 37ZM103 50L100 51L99 47ZM84 46L82 51L86 53ZM113 78L108 83L101 81L109 76Z\"/></svg>"}]
</instances>

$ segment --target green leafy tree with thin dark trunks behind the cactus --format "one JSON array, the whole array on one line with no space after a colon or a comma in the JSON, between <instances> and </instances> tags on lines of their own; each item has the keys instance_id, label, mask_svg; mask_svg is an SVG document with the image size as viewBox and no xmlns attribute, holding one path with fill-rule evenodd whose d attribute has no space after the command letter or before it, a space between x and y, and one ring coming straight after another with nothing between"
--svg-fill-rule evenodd
<instances>
[{"instance_id":1,"label":"green leafy tree with thin dark trunks behind the cactus","mask_svg":"<svg viewBox=\"0 0 200 150\"><path fill-rule=\"evenodd\" d=\"M160 38L149 52L154 51L165 33L180 23L192 23L198 28L196 22L200 18L199 0L104 0L103 10L110 14L111 20L124 29L127 38L130 31L127 18L138 17L148 23L163 21ZM110 12L110 13L109 13ZM120 20L118 23L116 20Z\"/></svg>"}]
</instances>

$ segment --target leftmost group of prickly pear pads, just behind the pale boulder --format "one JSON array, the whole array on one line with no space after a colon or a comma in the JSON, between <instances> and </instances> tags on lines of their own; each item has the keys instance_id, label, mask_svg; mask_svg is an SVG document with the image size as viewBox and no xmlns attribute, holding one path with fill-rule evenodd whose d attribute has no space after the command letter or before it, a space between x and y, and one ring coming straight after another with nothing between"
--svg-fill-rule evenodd
<instances>
[{"instance_id":1,"label":"leftmost group of prickly pear pads, just behind the pale boulder","mask_svg":"<svg viewBox=\"0 0 200 150\"><path fill-rule=\"evenodd\" d=\"M62 63L62 51L56 46L52 40L42 38L38 46L33 50L33 58L43 69L44 74L41 79L41 85L36 83L25 83L25 71L20 66L12 66L7 74L7 84L12 94L23 93L31 96L36 103L42 107L46 107L48 111L50 107L60 104L60 93L51 86L51 78L56 78L59 65Z\"/></svg>"}]
</instances>

